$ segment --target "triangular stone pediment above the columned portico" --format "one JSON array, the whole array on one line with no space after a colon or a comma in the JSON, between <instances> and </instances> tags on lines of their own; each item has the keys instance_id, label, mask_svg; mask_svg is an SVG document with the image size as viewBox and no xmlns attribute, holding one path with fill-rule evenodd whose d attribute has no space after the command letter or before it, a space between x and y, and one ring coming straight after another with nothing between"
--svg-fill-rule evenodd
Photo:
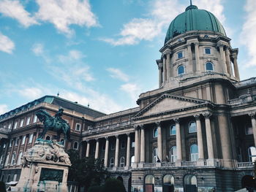
<instances>
[{"instance_id":1,"label":"triangular stone pediment above the columned portico","mask_svg":"<svg viewBox=\"0 0 256 192\"><path fill-rule=\"evenodd\" d=\"M164 94L140 110L134 118L157 115L176 110L184 110L189 107L195 107L206 103L208 103L208 101L203 99L193 99L184 96Z\"/></svg>"}]
</instances>

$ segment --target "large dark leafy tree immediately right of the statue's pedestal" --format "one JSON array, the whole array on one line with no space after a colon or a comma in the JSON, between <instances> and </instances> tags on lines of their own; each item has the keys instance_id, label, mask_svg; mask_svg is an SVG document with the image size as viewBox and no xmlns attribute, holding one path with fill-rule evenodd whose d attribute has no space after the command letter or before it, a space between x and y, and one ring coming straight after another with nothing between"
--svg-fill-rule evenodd
<instances>
[{"instance_id":1,"label":"large dark leafy tree immediately right of the statue's pedestal","mask_svg":"<svg viewBox=\"0 0 256 192\"><path fill-rule=\"evenodd\" d=\"M100 185L103 179L108 176L104 164L95 158L79 158L77 150L68 151L72 166L69 168L69 181L78 182L85 191L91 185Z\"/></svg>"}]
</instances>

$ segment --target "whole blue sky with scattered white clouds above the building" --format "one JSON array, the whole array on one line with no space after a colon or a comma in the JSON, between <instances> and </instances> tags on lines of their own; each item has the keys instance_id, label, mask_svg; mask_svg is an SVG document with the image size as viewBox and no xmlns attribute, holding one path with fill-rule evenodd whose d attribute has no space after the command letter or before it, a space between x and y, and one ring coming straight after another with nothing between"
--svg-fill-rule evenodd
<instances>
[{"instance_id":1,"label":"whole blue sky with scattered white clouds above the building","mask_svg":"<svg viewBox=\"0 0 256 192\"><path fill-rule=\"evenodd\" d=\"M193 0L239 48L241 79L255 76L256 1ZM167 27L189 0L0 0L0 114L44 95L102 112L136 107L157 88Z\"/></svg>"}]
</instances>

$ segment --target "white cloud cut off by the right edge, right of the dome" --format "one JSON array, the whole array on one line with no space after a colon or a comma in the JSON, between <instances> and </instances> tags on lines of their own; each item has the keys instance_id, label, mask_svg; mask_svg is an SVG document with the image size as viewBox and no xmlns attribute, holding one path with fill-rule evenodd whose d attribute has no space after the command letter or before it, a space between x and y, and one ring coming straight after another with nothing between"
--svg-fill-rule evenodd
<instances>
[{"instance_id":1,"label":"white cloud cut off by the right edge, right of the dome","mask_svg":"<svg viewBox=\"0 0 256 192\"><path fill-rule=\"evenodd\" d=\"M246 46L248 50L248 61L246 66L256 66L256 1L247 0L244 6L246 11L245 23L241 32L241 43Z\"/></svg>"}]
</instances>

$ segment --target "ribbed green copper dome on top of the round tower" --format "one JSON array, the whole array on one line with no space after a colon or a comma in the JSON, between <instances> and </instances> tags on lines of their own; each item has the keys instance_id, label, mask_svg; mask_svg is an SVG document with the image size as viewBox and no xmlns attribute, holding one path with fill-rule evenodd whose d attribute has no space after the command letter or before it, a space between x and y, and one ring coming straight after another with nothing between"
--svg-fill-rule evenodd
<instances>
[{"instance_id":1,"label":"ribbed green copper dome on top of the round tower","mask_svg":"<svg viewBox=\"0 0 256 192\"><path fill-rule=\"evenodd\" d=\"M195 5L187 7L185 12L178 15L170 23L165 43L187 31L216 31L226 36L225 29L219 20L211 12L198 9Z\"/></svg>"}]
</instances>

